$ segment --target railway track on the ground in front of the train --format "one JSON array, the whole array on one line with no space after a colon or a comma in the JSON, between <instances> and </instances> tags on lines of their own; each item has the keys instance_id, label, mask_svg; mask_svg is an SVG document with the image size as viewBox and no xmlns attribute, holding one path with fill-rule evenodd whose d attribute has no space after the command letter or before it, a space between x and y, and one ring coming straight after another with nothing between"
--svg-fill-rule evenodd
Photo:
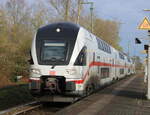
<instances>
[{"instance_id":1,"label":"railway track on the ground in front of the train","mask_svg":"<svg viewBox=\"0 0 150 115\"><path fill-rule=\"evenodd\" d=\"M49 115L54 114L70 103L32 102L0 112L0 115Z\"/></svg>"}]
</instances>

